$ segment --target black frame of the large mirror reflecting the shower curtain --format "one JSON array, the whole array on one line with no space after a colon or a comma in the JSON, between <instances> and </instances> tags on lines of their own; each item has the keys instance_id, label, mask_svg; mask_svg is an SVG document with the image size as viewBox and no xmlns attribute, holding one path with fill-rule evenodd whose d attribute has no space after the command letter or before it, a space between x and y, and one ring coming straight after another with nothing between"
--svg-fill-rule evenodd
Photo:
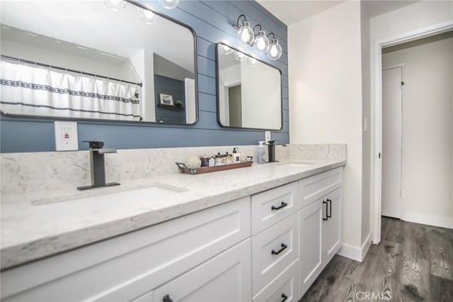
<instances>
[{"instance_id":1,"label":"black frame of the large mirror reflecting the shower curtain","mask_svg":"<svg viewBox=\"0 0 453 302\"><path fill-rule=\"evenodd\" d=\"M93 122L100 122L100 124L105 125L105 124L113 124L113 125L179 125L179 126L185 126L185 125L195 125L198 123L198 120L200 118L199 114L199 106L198 106L198 61L197 61L197 34L195 33L195 30L189 26L188 24L185 24L181 21L176 20L175 18L172 18L170 16L166 16L164 13L160 13L159 11L155 11L154 9L149 9L147 6L144 6L141 4L139 1L136 0L124 0L127 2L127 4L131 4L134 6L137 6L140 9L147 9L148 11L152 11L155 13L157 16L161 18L165 18L168 21L174 22L179 24L180 26L183 26L190 30L190 32L193 35L193 53L194 53L194 74L195 74L195 112L196 112L196 117L195 121L193 123L159 123L159 122L150 122L150 121L117 121L117 120L110 120L108 118L70 118L70 117L59 117L59 116L32 116L32 115L26 115L26 114L10 114L7 112L4 112L3 110L0 110L0 116L1 117L6 117L6 118L21 118L21 119L26 119L26 120L46 120L46 121L76 121L78 123L93 123ZM155 102L155 101L154 101ZM98 124L98 123L94 123Z\"/></svg>"}]
</instances>

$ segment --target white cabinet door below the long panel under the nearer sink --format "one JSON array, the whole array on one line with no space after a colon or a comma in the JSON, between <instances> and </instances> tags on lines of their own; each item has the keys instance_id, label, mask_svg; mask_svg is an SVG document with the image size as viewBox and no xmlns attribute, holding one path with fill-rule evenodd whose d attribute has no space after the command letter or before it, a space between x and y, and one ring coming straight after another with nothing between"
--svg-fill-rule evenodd
<instances>
[{"instance_id":1,"label":"white cabinet door below the long panel under the nearer sink","mask_svg":"<svg viewBox=\"0 0 453 302\"><path fill-rule=\"evenodd\" d=\"M155 302L251 301L251 240L154 290Z\"/></svg>"}]
</instances>

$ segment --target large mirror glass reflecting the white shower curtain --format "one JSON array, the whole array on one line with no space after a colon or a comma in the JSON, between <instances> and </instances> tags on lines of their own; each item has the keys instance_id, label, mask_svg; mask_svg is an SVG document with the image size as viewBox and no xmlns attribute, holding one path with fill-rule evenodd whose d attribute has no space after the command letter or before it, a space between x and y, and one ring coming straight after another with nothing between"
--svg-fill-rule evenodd
<instances>
[{"instance_id":1,"label":"large mirror glass reflecting the white shower curtain","mask_svg":"<svg viewBox=\"0 0 453 302\"><path fill-rule=\"evenodd\" d=\"M195 123L193 30L124 3L3 1L1 112Z\"/></svg>"}]
</instances>

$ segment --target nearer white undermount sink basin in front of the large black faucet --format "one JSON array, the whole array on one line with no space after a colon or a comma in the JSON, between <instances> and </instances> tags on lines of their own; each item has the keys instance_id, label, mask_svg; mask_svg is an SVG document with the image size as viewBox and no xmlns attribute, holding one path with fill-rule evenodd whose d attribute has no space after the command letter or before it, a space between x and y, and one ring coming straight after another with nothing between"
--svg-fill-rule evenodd
<instances>
[{"instance_id":1,"label":"nearer white undermount sink basin in front of the large black faucet","mask_svg":"<svg viewBox=\"0 0 453 302\"><path fill-rule=\"evenodd\" d=\"M120 210L128 204L137 202L159 202L162 198L178 194L182 191L185 191L185 189L153 184L128 191L88 196L54 203L42 203L35 205L33 208L38 216L40 214L45 214L45 216L55 215L57 217L81 216L84 214L92 215L93 213L100 213L103 210L115 208Z\"/></svg>"}]
</instances>

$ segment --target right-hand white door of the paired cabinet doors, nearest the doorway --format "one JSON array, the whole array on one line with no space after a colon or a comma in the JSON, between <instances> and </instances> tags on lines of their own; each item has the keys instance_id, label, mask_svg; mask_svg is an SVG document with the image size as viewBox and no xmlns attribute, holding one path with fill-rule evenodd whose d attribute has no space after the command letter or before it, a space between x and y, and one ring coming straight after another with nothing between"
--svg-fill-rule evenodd
<instances>
[{"instance_id":1,"label":"right-hand white door of the paired cabinet doors, nearest the doorway","mask_svg":"<svg viewBox=\"0 0 453 302\"><path fill-rule=\"evenodd\" d=\"M326 195L327 220L323 223L324 264L331 261L341 245L341 188Z\"/></svg>"}]
</instances>

